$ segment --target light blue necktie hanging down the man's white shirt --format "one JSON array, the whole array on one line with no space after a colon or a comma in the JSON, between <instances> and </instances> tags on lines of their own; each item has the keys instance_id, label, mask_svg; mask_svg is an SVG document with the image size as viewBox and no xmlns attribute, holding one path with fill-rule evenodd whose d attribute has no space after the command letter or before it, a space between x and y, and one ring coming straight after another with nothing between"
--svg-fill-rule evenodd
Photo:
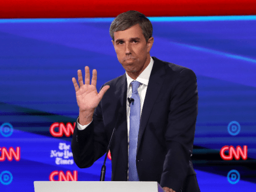
<instances>
[{"instance_id":1,"label":"light blue necktie hanging down the man's white shirt","mask_svg":"<svg viewBox=\"0 0 256 192\"><path fill-rule=\"evenodd\" d=\"M140 96L138 87L140 82L132 82L132 99L130 104L130 132L129 132L129 181L139 181L136 168L136 154L138 142L138 130L140 128Z\"/></svg>"}]
</instances>

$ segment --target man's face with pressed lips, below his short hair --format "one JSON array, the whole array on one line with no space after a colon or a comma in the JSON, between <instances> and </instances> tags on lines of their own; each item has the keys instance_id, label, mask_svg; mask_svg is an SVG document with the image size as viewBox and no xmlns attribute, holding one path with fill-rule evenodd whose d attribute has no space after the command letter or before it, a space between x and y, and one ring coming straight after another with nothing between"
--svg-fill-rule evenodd
<instances>
[{"instance_id":1,"label":"man's face with pressed lips, below his short hair","mask_svg":"<svg viewBox=\"0 0 256 192\"><path fill-rule=\"evenodd\" d=\"M112 41L118 61L126 69L127 74L138 76L150 62L149 51L154 38L146 43L142 29L136 24L129 29L114 32L115 41Z\"/></svg>"}]
</instances>

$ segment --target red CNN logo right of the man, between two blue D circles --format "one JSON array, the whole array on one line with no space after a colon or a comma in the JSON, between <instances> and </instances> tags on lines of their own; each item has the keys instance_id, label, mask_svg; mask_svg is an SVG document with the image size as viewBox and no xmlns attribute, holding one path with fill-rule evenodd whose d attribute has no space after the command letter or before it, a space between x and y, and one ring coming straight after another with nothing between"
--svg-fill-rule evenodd
<instances>
[{"instance_id":1,"label":"red CNN logo right of the man, between two blue D circles","mask_svg":"<svg viewBox=\"0 0 256 192\"><path fill-rule=\"evenodd\" d=\"M247 159L247 145L243 146L243 149L241 146L236 146L236 149L231 145L230 147L228 145L223 146L221 148L221 151L219 151L219 154L221 155L221 158L223 160L232 160L233 157L235 157L236 160L239 160L240 157L243 158L243 160ZM225 151L229 151L229 155L225 155Z\"/></svg>"}]
</instances>

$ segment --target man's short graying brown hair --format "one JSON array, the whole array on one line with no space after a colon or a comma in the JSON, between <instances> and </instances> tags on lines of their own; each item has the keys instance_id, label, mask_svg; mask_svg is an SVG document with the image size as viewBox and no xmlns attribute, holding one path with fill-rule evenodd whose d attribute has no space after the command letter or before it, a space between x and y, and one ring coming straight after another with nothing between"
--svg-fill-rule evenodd
<instances>
[{"instance_id":1,"label":"man's short graying brown hair","mask_svg":"<svg viewBox=\"0 0 256 192\"><path fill-rule=\"evenodd\" d=\"M151 38L153 34L151 21L149 21L145 15L135 10L129 10L127 12L121 13L116 16L115 20L112 21L109 29L112 40L115 41L114 32L129 29L135 24L140 25L146 42L148 42L149 38Z\"/></svg>"}]
</instances>

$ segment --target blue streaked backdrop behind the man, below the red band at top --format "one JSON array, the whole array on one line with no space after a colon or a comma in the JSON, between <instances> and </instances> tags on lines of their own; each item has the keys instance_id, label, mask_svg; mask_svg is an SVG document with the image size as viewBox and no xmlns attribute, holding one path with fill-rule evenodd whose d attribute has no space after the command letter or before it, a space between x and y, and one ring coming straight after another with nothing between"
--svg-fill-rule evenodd
<instances>
[{"instance_id":1,"label":"blue streaked backdrop behind the man, below the red band at top","mask_svg":"<svg viewBox=\"0 0 256 192\"><path fill-rule=\"evenodd\" d=\"M255 191L256 16L149 19L155 39L151 55L197 76L192 159L201 191ZM53 137L49 128L76 121L71 79L77 69L83 75L85 65L97 69L98 90L125 73L108 33L111 21L0 20L0 148L20 147L20 160L0 161L0 191L34 191L33 182L49 180L53 171L76 170L78 180L99 180L103 158L78 168L71 155L65 157L72 136ZM225 145L246 145L247 160L222 160ZM110 160L106 180L111 180Z\"/></svg>"}]
</instances>

